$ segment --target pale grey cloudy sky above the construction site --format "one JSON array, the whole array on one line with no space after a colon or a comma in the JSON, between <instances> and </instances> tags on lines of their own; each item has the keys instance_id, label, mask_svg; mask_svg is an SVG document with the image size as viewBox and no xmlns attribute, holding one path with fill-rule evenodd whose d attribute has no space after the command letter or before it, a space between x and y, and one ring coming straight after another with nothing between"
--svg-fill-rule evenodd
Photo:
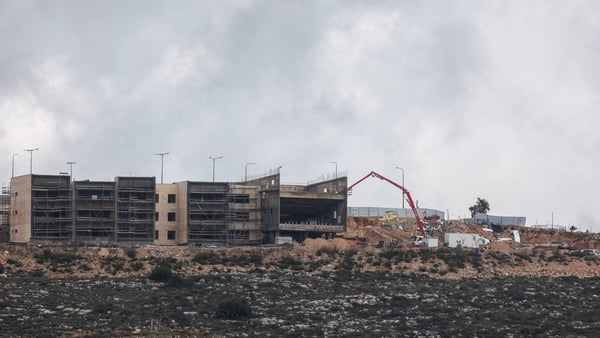
<instances>
[{"instance_id":1,"label":"pale grey cloudy sky above the construction site","mask_svg":"<svg viewBox=\"0 0 600 338\"><path fill-rule=\"evenodd\" d=\"M0 175L289 183L600 231L598 1L0 0ZM401 206L377 179L351 206Z\"/></svg>"}]
</instances>

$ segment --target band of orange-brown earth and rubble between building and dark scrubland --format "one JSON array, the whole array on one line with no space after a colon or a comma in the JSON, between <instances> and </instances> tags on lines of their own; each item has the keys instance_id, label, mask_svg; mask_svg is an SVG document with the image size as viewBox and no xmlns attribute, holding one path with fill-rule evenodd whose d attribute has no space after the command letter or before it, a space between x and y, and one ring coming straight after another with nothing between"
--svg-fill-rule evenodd
<instances>
[{"instance_id":1,"label":"band of orange-brown earth and rubble between building and dark scrubland","mask_svg":"<svg viewBox=\"0 0 600 338\"><path fill-rule=\"evenodd\" d=\"M331 240L308 239L294 246L135 248L0 245L0 276L48 278L145 277L168 265L182 276L254 270L315 274L338 270L427 275L456 279L494 276L577 276L600 274L596 234L518 228L521 242L498 241L512 230L490 233L480 226L443 225L443 231L480 233L492 239L480 254L472 249L419 248L409 244L416 225L403 221L381 227L374 219L351 219L348 232Z\"/></svg>"}]
</instances>

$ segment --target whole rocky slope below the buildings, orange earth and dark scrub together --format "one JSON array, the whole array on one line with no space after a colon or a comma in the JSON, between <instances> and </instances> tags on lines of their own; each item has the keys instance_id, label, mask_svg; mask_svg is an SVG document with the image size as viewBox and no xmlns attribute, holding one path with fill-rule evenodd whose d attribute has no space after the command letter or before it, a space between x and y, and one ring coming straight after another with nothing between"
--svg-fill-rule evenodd
<instances>
[{"instance_id":1,"label":"whole rocky slope below the buildings, orange earth and dark scrub together","mask_svg":"<svg viewBox=\"0 0 600 338\"><path fill-rule=\"evenodd\" d=\"M0 245L0 336L592 337L600 329L600 258L581 252L598 247L596 234L520 228L521 243L477 254L414 248L410 224L373 222L353 220L339 238L293 247ZM445 227L497 238L513 230ZM166 278L149 279L163 268ZM242 302L233 310L243 316L222 315L228 300Z\"/></svg>"}]
</instances>

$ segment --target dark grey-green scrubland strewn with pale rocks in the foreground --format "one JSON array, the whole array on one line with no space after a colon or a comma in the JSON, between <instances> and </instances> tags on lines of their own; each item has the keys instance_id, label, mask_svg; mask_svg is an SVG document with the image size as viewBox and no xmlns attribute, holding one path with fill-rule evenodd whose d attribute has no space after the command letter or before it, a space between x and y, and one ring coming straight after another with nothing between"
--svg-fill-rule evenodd
<instances>
[{"instance_id":1,"label":"dark grey-green scrubland strewn with pale rocks in the foreground","mask_svg":"<svg viewBox=\"0 0 600 338\"><path fill-rule=\"evenodd\" d=\"M442 280L337 271L146 279L15 278L0 284L1 336L594 337L598 278ZM248 318L218 319L240 297Z\"/></svg>"}]
</instances>

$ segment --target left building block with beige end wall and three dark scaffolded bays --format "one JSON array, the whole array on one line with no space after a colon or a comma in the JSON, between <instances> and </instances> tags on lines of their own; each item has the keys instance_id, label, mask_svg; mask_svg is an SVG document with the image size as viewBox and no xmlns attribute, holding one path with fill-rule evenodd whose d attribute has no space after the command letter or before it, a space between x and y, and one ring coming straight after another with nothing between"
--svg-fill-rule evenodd
<instances>
[{"instance_id":1,"label":"left building block with beige end wall and three dark scaffolded bays","mask_svg":"<svg viewBox=\"0 0 600 338\"><path fill-rule=\"evenodd\" d=\"M70 180L63 175L12 179L12 242L154 241L154 177Z\"/></svg>"}]
</instances>

